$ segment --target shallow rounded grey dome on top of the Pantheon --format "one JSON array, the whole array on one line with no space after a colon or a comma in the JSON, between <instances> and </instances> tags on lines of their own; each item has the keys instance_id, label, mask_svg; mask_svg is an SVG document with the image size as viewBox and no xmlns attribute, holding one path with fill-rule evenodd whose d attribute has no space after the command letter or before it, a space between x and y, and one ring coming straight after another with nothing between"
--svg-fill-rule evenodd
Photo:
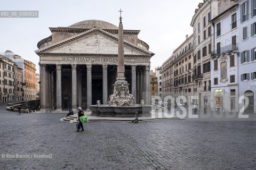
<instances>
[{"instance_id":1,"label":"shallow rounded grey dome on top of the Pantheon","mask_svg":"<svg viewBox=\"0 0 256 170\"><path fill-rule=\"evenodd\" d=\"M84 20L74 23L70 25L68 28L93 29L96 27L100 29L118 30L118 27L116 27L116 25L101 20Z\"/></svg>"}]
</instances>

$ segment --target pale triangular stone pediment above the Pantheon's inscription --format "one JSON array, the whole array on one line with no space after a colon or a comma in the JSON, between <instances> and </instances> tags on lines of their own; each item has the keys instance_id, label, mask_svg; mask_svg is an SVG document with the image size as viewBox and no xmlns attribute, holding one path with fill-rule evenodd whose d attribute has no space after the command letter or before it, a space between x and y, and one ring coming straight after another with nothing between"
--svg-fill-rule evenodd
<instances>
[{"instance_id":1,"label":"pale triangular stone pediment above the Pantheon's inscription","mask_svg":"<svg viewBox=\"0 0 256 170\"><path fill-rule=\"evenodd\" d=\"M36 50L36 53L117 55L118 37L99 28L95 28L50 46L38 49ZM124 54L145 56L151 55L152 53L124 40Z\"/></svg>"}]
</instances>

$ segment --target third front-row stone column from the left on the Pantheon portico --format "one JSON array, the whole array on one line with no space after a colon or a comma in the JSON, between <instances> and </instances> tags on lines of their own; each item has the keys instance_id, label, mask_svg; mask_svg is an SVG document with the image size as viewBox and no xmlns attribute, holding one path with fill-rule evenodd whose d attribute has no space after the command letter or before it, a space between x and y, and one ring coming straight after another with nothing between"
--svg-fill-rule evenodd
<instances>
[{"instance_id":1,"label":"third front-row stone column from the left on the Pantheon portico","mask_svg":"<svg viewBox=\"0 0 256 170\"><path fill-rule=\"evenodd\" d=\"M76 64L72 64L72 110L77 111L77 73Z\"/></svg>"}]
</instances>

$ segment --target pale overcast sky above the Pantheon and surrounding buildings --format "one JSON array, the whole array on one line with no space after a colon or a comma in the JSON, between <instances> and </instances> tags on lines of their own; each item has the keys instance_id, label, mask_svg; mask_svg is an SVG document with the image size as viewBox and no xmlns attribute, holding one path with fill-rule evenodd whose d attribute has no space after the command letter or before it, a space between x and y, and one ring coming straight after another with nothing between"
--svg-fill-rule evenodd
<instances>
[{"instance_id":1,"label":"pale overcast sky above the Pantheon and surrounding buildings","mask_svg":"<svg viewBox=\"0 0 256 170\"><path fill-rule=\"evenodd\" d=\"M119 8L124 11L124 29L141 30L139 39L155 55L151 70L161 66L193 33L190 21L202 0L0 0L1 11L39 11L39 18L0 18L0 52L11 50L36 64L38 41L51 35L49 27L68 27L83 20L103 20L118 26Z\"/></svg>"}]
</instances>

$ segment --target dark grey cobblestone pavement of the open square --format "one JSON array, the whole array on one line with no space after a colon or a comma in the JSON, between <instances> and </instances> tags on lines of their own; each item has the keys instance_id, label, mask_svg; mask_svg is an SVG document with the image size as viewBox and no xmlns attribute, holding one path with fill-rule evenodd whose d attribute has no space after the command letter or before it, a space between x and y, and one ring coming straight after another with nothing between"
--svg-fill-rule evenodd
<instances>
[{"instance_id":1,"label":"dark grey cobblestone pavement of the open square","mask_svg":"<svg viewBox=\"0 0 256 170\"><path fill-rule=\"evenodd\" d=\"M255 169L254 121L75 123L0 108L0 169ZM3 158L2 154L5 155ZM52 158L6 158L7 154Z\"/></svg>"}]
</instances>

